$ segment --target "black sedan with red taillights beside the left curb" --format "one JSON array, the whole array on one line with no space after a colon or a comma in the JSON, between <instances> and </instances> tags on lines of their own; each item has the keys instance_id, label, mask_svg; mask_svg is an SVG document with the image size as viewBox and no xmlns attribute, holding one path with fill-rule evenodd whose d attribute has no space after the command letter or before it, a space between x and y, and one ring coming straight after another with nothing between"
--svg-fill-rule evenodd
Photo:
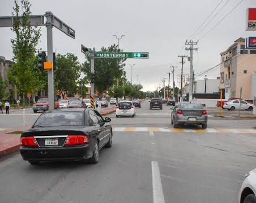
<instances>
[{"instance_id":1,"label":"black sedan with red taillights beside the left curb","mask_svg":"<svg viewBox=\"0 0 256 203\"><path fill-rule=\"evenodd\" d=\"M30 164L40 161L99 162L100 149L112 147L111 119L95 109L72 108L42 113L21 135L20 153Z\"/></svg>"}]
</instances>

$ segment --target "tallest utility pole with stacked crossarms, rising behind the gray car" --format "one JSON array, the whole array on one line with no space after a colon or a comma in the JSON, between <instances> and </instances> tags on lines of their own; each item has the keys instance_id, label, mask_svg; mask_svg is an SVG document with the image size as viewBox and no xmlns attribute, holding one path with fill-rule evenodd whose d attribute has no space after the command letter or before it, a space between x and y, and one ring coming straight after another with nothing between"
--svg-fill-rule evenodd
<instances>
[{"instance_id":1,"label":"tallest utility pole with stacked crossarms, rising behind the gray car","mask_svg":"<svg viewBox=\"0 0 256 203\"><path fill-rule=\"evenodd\" d=\"M193 50L198 50L197 48L193 48L193 45L197 45L197 42L194 41L186 41L185 45L190 45L190 48L186 48L186 51L190 51L190 69L189 69L189 101L192 101L193 98Z\"/></svg>"}]
</instances>

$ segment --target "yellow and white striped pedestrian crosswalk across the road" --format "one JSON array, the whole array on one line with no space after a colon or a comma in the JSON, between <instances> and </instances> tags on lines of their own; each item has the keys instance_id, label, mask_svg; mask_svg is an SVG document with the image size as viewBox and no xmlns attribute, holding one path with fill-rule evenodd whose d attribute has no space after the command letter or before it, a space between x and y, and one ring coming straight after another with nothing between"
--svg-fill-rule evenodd
<instances>
[{"instance_id":1,"label":"yellow and white striped pedestrian crosswalk across the road","mask_svg":"<svg viewBox=\"0 0 256 203\"><path fill-rule=\"evenodd\" d=\"M113 127L113 132L167 132L167 133L250 133L256 134L256 129L184 129L173 127Z\"/></svg>"}]
</instances>

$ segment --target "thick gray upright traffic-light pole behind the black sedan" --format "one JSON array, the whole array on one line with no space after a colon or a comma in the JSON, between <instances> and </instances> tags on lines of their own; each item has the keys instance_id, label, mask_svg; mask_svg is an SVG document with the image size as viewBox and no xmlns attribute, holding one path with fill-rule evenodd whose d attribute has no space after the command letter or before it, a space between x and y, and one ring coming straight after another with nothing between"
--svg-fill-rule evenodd
<instances>
[{"instance_id":1,"label":"thick gray upright traffic-light pole behind the black sedan","mask_svg":"<svg viewBox=\"0 0 256 203\"><path fill-rule=\"evenodd\" d=\"M53 61L53 25L52 25L52 12L46 12L46 28L47 28L47 52L48 61ZM54 109L54 72L53 68L48 71L48 99L49 110Z\"/></svg>"}]
</instances>

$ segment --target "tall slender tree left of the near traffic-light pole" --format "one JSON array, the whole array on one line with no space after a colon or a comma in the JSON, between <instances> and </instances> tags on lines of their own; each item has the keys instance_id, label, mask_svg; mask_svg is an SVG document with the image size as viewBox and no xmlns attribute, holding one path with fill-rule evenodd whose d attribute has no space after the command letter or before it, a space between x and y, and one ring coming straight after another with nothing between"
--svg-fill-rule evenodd
<instances>
[{"instance_id":1,"label":"tall slender tree left of the near traffic-light pole","mask_svg":"<svg viewBox=\"0 0 256 203\"><path fill-rule=\"evenodd\" d=\"M16 86L16 89L23 94L23 106L25 105L25 94L35 92L44 86L40 78L40 72L35 71L36 46L40 39L40 29L31 27L29 16L31 15L31 3L28 0L21 0L21 9L15 0L12 16L14 23L11 30L16 37L11 39L14 54L12 67L8 70L9 80ZM21 18L19 15L21 13ZM38 70L38 69L37 69Z\"/></svg>"}]
</instances>

